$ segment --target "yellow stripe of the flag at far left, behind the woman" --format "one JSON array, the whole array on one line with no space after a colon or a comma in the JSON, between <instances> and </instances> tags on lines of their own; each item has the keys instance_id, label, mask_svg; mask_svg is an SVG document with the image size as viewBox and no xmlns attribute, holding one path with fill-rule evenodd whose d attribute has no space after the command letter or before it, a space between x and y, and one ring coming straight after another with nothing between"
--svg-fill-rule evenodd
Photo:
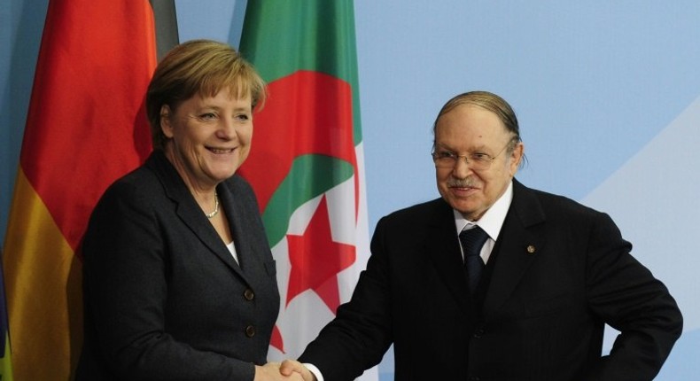
<instances>
[{"instance_id":1,"label":"yellow stripe of the flag at far left, behind the woman","mask_svg":"<svg viewBox=\"0 0 700 381\"><path fill-rule=\"evenodd\" d=\"M3 260L15 379L68 380L82 345L82 263L21 168Z\"/></svg>"}]
</instances>

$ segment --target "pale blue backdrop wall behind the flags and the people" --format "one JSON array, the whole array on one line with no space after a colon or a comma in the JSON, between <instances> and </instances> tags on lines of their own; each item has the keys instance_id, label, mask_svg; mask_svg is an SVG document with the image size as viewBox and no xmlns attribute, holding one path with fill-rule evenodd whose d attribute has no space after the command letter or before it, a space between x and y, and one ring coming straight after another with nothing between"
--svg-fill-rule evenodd
<instances>
[{"instance_id":1,"label":"pale blue backdrop wall behind the flags and the people","mask_svg":"<svg viewBox=\"0 0 700 381\"><path fill-rule=\"evenodd\" d=\"M245 3L175 3L181 41L237 46ZM46 6L0 6L0 242ZM355 0L355 19L370 234L381 216L437 197L439 107L494 91L521 124L519 180L610 213L681 305L684 333L657 380L696 378L700 2ZM391 353L379 371L393 379Z\"/></svg>"}]
</instances>

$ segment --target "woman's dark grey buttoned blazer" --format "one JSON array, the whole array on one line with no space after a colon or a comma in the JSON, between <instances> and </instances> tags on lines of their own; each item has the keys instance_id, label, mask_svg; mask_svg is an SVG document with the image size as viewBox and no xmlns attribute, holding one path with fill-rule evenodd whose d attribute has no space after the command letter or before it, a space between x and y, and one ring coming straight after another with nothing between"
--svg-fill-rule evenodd
<instances>
[{"instance_id":1,"label":"woman's dark grey buttoned blazer","mask_svg":"<svg viewBox=\"0 0 700 381\"><path fill-rule=\"evenodd\" d=\"M267 361L275 261L248 183L217 193L240 266L163 152L105 191L82 244L78 380L252 380Z\"/></svg>"}]
</instances>

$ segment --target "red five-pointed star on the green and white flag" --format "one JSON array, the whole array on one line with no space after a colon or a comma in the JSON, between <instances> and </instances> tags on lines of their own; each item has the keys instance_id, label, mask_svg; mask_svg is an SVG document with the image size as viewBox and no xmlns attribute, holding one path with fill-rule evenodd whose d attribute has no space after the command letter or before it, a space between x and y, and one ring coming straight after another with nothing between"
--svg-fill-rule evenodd
<instances>
[{"instance_id":1,"label":"red five-pointed star on the green and white flag","mask_svg":"<svg viewBox=\"0 0 700 381\"><path fill-rule=\"evenodd\" d=\"M303 234L287 235L292 265L287 305L301 292L312 290L335 314L340 305L338 273L354 263L355 246L333 241L325 196Z\"/></svg>"}]
</instances>

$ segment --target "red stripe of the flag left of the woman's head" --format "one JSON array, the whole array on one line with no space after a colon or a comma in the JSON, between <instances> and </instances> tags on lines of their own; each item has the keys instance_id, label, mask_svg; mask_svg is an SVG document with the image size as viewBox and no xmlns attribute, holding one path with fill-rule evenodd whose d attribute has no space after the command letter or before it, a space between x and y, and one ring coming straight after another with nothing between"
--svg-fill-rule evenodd
<instances>
[{"instance_id":1,"label":"red stripe of the flag left of the woman's head","mask_svg":"<svg viewBox=\"0 0 700 381\"><path fill-rule=\"evenodd\" d=\"M74 249L106 186L151 151L155 51L147 1L49 4L20 165Z\"/></svg>"}]
</instances>

